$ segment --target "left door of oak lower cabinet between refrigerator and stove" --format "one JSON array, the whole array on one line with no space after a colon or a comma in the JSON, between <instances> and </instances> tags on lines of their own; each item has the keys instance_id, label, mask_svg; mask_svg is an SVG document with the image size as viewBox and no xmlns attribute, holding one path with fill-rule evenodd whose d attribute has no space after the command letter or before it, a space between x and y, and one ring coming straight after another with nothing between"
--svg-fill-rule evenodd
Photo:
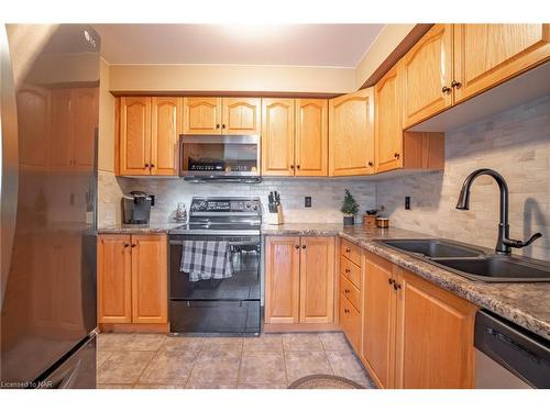
<instances>
[{"instance_id":1,"label":"left door of oak lower cabinet between refrigerator and stove","mask_svg":"<svg viewBox=\"0 0 550 412\"><path fill-rule=\"evenodd\" d=\"M132 322L130 236L98 237L98 323Z\"/></svg>"}]
</instances>

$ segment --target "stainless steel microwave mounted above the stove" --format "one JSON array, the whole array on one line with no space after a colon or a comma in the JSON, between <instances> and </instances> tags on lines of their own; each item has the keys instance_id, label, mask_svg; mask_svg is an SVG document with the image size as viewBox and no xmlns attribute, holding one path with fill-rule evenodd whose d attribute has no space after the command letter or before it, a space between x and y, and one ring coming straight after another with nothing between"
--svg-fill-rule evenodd
<instances>
[{"instance_id":1,"label":"stainless steel microwave mounted above the stove","mask_svg":"<svg viewBox=\"0 0 550 412\"><path fill-rule=\"evenodd\" d=\"M179 176L186 180L260 178L258 135L179 136Z\"/></svg>"}]
</instances>

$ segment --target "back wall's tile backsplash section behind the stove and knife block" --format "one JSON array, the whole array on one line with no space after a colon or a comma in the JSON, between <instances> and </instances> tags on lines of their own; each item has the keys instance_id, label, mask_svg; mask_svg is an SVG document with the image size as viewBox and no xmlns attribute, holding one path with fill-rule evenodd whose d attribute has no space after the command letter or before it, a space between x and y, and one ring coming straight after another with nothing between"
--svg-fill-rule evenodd
<instances>
[{"instance_id":1,"label":"back wall's tile backsplash section behind the stove and knife block","mask_svg":"<svg viewBox=\"0 0 550 412\"><path fill-rule=\"evenodd\" d=\"M178 202L185 202L189 210L193 196L245 196L260 197L264 213L267 194L272 190L280 193L284 218L292 222L342 223L340 207L344 189L349 188L360 203L361 212L372 209L375 202L375 183L361 179L265 179L258 185L237 183L189 183L180 179L130 179L100 175L99 225L120 223L120 198L122 192L143 190L155 194L155 207L151 222L173 222ZM312 207L304 207L304 197L312 197Z\"/></svg>"}]
</instances>

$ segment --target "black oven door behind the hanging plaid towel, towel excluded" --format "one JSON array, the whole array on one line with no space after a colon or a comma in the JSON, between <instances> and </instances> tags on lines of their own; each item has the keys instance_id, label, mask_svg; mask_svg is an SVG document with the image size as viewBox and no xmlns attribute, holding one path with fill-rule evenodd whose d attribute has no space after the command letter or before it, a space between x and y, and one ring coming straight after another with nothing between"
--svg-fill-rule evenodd
<instances>
[{"instance_id":1,"label":"black oven door behind the hanging plaid towel, towel excluded","mask_svg":"<svg viewBox=\"0 0 550 412\"><path fill-rule=\"evenodd\" d=\"M180 270L184 241L227 241L233 276L191 281ZM172 235L169 240L172 300L260 300L260 236Z\"/></svg>"}]
</instances>

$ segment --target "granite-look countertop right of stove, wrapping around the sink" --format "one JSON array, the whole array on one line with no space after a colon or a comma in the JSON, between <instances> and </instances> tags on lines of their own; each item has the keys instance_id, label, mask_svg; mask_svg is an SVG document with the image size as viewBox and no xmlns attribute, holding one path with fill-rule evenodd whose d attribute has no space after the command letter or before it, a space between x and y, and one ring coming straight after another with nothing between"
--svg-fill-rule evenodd
<instances>
[{"instance_id":1,"label":"granite-look countertop right of stove, wrapping around the sink","mask_svg":"<svg viewBox=\"0 0 550 412\"><path fill-rule=\"evenodd\" d=\"M377 240L429 238L424 233L388 229L365 229L341 224L306 223L262 226L264 235L318 235L340 237L382 256L421 278L550 339L550 282L487 283L474 281L406 255Z\"/></svg>"}]
</instances>

